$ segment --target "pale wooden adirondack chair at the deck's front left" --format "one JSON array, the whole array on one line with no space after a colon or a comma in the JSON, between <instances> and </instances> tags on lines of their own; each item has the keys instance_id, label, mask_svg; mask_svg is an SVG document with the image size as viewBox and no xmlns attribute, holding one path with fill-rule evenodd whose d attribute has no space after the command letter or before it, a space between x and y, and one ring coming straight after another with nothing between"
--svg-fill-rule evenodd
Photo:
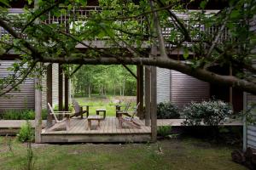
<instances>
[{"instance_id":1,"label":"pale wooden adirondack chair at the deck's front left","mask_svg":"<svg viewBox=\"0 0 256 170\"><path fill-rule=\"evenodd\" d=\"M72 114L70 111L54 111L51 105L48 103L50 115L53 115L55 118L55 123L62 124L66 123L66 130L70 128L70 115ZM66 116L62 120L59 120L56 115Z\"/></svg>"}]
</instances>

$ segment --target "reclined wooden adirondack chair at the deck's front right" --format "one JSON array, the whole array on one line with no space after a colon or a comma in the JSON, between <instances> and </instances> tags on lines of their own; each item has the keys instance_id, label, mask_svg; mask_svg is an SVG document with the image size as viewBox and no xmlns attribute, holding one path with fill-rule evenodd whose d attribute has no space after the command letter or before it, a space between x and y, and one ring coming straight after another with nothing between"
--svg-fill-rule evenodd
<instances>
[{"instance_id":1,"label":"reclined wooden adirondack chair at the deck's front right","mask_svg":"<svg viewBox=\"0 0 256 170\"><path fill-rule=\"evenodd\" d=\"M134 111L119 112L119 127L123 128L123 123L129 124L131 127L141 128L141 125L134 121L134 116L137 114L137 109L140 103L137 104Z\"/></svg>"}]
</instances>

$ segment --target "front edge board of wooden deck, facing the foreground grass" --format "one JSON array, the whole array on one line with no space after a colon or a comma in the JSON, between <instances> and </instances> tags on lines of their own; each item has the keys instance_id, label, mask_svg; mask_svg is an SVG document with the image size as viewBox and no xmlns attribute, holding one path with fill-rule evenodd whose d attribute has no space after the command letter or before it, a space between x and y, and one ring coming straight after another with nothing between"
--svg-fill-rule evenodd
<instances>
[{"instance_id":1,"label":"front edge board of wooden deck, facing the foreground grass","mask_svg":"<svg viewBox=\"0 0 256 170\"><path fill-rule=\"evenodd\" d=\"M151 134L41 135L41 143L133 143L149 141L151 141Z\"/></svg>"}]
</instances>

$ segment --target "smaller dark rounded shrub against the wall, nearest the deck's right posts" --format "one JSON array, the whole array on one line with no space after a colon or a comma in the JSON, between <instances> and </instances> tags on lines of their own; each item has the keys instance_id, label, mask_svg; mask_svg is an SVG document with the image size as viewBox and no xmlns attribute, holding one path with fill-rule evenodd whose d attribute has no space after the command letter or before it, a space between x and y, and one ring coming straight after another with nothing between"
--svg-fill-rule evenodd
<instances>
[{"instance_id":1,"label":"smaller dark rounded shrub against the wall, nearest the deck's right posts","mask_svg":"<svg viewBox=\"0 0 256 170\"><path fill-rule=\"evenodd\" d=\"M160 102L157 105L157 118L158 119L177 119L180 114L176 105L171 102Z\"/></svg>"}]
</instances>

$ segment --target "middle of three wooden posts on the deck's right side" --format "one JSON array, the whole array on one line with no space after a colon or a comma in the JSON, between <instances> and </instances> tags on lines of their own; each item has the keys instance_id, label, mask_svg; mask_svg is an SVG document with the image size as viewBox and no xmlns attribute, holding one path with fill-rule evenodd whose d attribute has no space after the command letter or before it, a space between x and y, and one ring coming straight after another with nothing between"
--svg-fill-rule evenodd
<instances>
[{"instance_id":1,"label":"middle of three wooden posts on the deck's right side","mask_svg":"<svg viewBox=\"0 0 256 170\"><path fill-rule=\"evenodd\" d=\"M145 66L145 125L150 125L150 66Z\"/></svg>"}]
</instances>

